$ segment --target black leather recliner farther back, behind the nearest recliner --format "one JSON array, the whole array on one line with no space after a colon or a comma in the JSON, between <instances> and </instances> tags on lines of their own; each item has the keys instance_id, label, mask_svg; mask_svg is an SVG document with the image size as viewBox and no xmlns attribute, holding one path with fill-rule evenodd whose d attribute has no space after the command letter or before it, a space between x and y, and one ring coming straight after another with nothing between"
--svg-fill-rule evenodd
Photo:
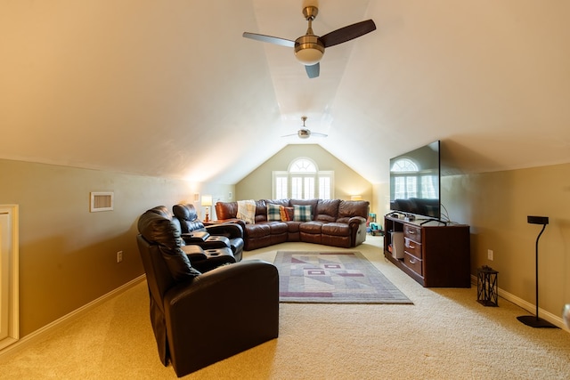
<instances>
[{"instance_id":1,"label":"black leather recliner farther back, behind the nearest recliner","mask_svg":"<svg viewBox=\"0 0 570 380\"><path fill-rule=\"evenodd\" d=\"M243 229L237 223L223 223L205 226L198 219L196 208L191 204L172 206L175 219L180 222L182 239L188 245L204 249L228 247L232 249L236 262L243 253Z\"/></svg>"}]
</instances>

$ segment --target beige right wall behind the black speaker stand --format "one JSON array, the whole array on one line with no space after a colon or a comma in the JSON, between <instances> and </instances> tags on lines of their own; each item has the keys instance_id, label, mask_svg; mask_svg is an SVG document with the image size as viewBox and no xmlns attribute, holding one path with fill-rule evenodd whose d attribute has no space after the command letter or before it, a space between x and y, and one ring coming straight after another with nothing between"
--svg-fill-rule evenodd
<instances>
[{"instance_id":1,"label":"beige right wall behind the black speaker stand","mask_svg":"<svg viewBox=\"0 0 570 380\"><path fill-rule=\"evenodd\" d=\"M570 303L570 164L454 175L443 178L442 188L452 221L471 226L471 271L493 267L501 289L532 304L542 226L526 216L550 218L539 241L539 303L559 317Z\"/></svg>"}]
</instances>

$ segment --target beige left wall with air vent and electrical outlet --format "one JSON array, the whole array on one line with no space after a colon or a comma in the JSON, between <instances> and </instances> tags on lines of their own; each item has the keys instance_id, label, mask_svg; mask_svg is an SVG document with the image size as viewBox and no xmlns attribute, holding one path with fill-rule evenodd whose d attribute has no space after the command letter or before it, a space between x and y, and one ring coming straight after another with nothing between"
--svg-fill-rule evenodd
<instances>
[{"instance_id":1,"label":"beige left wall with air vent and electrical outlet","mask_svg":"<svg viewBox=\"0 0 570 380\"><path fill-rule=\"evenodd\" d=\"M192 202L232 186L0 159L0 204L20 205L20 336L140 276L136 221L153 206ZM89 212L90 191L115 209ZM117 252L123 262L117 263Z\"/></svg>"}]
</instances>

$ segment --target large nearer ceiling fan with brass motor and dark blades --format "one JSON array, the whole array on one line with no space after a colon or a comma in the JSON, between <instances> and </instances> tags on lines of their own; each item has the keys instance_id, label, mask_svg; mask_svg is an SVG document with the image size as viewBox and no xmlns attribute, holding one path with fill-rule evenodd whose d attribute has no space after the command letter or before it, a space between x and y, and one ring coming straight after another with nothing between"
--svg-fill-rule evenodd
<instances>
[{"instance_id":1,"label":"large nearer ceiling fan with brass motor and dark blades","mask_svg":"<svg viewBox=\"0 0 570 380\"><path fill-rule=\"evenodd\" d=\"M376 30L376 24L372 20L365 20L339 28L327 33L324 36L315 36L313 33L313 20L317 17L319 9L316 6L306 6L303 9L303 15L309 23L305 36L298 37L295 41L274 37L259 35L256 33L244 32L246 38L256 39L270 44L280 44L281 46L295 48L295 56L297 60L305 65L305 71L308 77L319 77L320 65L324 49L335 44L342 44L359 36L363 36Z\"/></svg>"}]
</instances>

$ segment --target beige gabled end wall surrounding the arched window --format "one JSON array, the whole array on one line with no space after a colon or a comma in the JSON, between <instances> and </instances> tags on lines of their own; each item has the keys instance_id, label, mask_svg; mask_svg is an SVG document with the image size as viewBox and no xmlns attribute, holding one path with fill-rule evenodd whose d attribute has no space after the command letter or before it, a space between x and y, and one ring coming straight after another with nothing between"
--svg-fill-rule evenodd
<instances>
[{"instance_id":1,"label":"beige gabled end wall surrounding the arched window","mask_svg":"<svg viewBox=\"0 0 570 380\"><path fill-rule=\"evenodd\" d=\"M363 199L371 202L371 212L374 212L375 199L371 182L366 181L360 174L316 144L288 145L280 150L236 184L235 199L272 198L272 172L274 170L287 171L289 164L295 158L311 158L319 170L334 170L334 198L350 199L351 195L362 195Z\"/></svg>"}]
</instances>

